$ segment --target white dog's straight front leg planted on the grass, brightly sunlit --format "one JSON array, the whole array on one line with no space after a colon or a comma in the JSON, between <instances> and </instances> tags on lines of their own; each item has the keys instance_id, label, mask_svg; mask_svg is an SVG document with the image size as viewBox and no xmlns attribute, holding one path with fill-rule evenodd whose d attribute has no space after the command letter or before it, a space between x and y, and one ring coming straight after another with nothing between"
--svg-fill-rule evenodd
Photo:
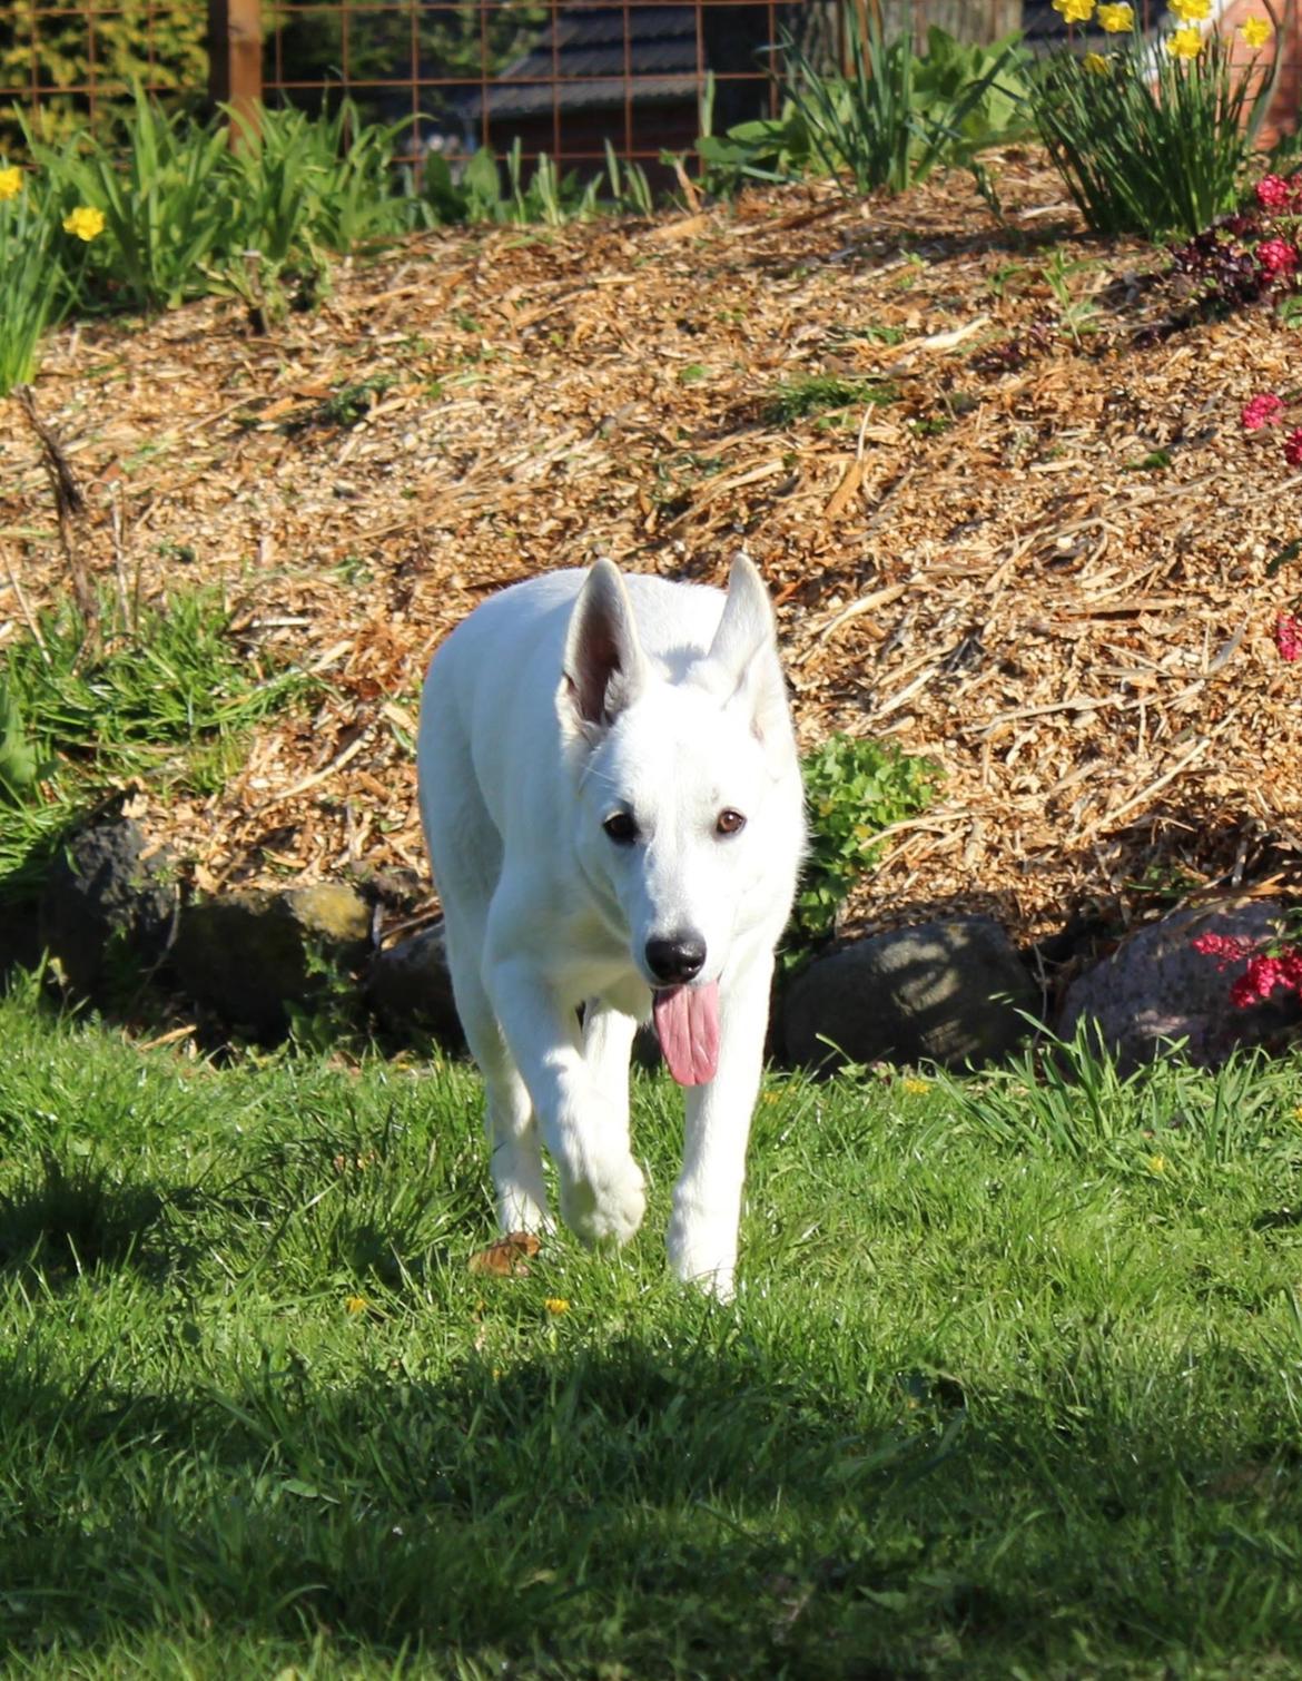
<instances>
[{"instance_id":1,"label":"white dog's straight front leg planted on the grass, brightly sunlit","mask_svg":"<svg viewBox=\"0 0 1302 1681\"><path fill-rule=\"evenodd\" d=\"M669 1264L722 1301L738 1262L746 1141L764 1062L773 958L758 958L719 988L719 1066L707 1086L687 1088L687 1136L674 1187Z\"/></svg>"}]
</instances>

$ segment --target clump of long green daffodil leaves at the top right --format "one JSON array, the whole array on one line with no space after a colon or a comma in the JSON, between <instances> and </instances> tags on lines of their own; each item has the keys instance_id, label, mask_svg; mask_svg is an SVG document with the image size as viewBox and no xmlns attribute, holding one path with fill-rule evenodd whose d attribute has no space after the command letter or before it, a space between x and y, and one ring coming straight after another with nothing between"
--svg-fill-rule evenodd
<instances>
[{"instance_id":1,"label":"clump of long green daffodil leaves at the top right","mask_svg":"<svg viewBox=\"0 0 1302 1681\"><path fill-rule=\"evenodd\" d=\"M1278 81L1278 40L1277 30L1255 92L1260 54L1236 64L1218 30L1194 59L1159 50L1154 64L1149 44L1127 37L1105 59L1063 50L1042 62L1030 109L1095 234L1193 237L1236 207Z\"/></svg>"}]
</instances>

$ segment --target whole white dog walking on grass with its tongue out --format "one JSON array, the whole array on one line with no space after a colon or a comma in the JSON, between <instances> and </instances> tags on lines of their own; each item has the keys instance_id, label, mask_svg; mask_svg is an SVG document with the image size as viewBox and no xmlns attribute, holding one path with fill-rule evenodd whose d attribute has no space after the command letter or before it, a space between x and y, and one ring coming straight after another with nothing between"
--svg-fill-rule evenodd
<instances>
[{"instance_id":1,"label":"whole white dog walking on grass with its tongue out","mask_svg":"<svg viewBox=\"0 0 1302 1681\"><path fill-rule=\"evenodd\" d=\"M669 1259L729 1296L805 840L759 573L739 556L722 595L600 560L504 590L435 654L417 758L502 1230L549 1229L539 1128L566 1224L638 1229L628 1054L650 1015L687 1088Z\"/></svg>"}]
</instances>

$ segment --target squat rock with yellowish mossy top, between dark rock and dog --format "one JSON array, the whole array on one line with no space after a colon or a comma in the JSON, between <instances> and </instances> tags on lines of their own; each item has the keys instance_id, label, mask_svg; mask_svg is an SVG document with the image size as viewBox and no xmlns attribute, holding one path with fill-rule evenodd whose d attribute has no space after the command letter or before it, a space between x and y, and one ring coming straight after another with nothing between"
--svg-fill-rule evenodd
<instances>
[{"instance_id":1,"label":"squat rock with yellowish mossy top, between dark rock and dog","mask_svg":"<svg viewBox=\"0 0 1302 1681\"><path fill-rule=\"evenodd\" d=\"M185 906L173 950L181 985L228 1027L259 1039L289 1029L289 1005L311 1009L329 972L358 970L371 913L339 884L254 889Z\"/></svg>"}]
</instances>

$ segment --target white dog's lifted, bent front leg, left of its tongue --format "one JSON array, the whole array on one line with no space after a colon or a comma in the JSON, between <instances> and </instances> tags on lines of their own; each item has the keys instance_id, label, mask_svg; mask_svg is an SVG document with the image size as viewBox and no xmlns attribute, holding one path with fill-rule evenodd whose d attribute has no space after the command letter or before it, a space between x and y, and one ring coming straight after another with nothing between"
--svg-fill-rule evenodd
<instances>
[{"instance_id":1,"label":"white dog's lifted, bent front leg, left of its tongue","mask_svg":"<svg viewBox=\"0 0 1302 1681\"><path fill-rule=\"evenodd\" d=\"M533 1098L561 1180L561 1215L583 1242L628 1242L647 1197L628 1150L628 1101L605 1089L583 1056L575 1009L546 970L522 958L492 965L489 992Z\"/></svg>"}]
</instances>

